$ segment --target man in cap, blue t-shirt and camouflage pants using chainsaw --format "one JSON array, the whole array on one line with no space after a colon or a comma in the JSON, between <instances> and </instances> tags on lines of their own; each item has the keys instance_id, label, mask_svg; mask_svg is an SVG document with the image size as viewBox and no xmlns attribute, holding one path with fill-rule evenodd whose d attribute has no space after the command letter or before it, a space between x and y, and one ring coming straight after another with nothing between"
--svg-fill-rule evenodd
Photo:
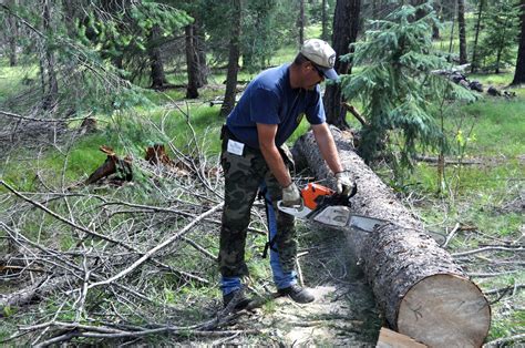
<instances>
[{"instance_id":1,"label":"man in cap, blue t-shirt and camouflage pants using chainsaw","mask_svg":"<svg viewBox=\"0 0 525 348\"><path fill-rule=\"evenodd\" d=\"M306 304L313 295L297 284L297 240L294 217L277 208L302 204L290 175L294 165L285 142L302 117L311 124L322 157L337 180L339 193L348 194L352 182L343 171L326 123L319 83L337 80L336 52L325 41L307 40L291 64L261 72L246 88L223 127L222 166L225 174L225 205L218 256L225 307L235 298L235 309L249 299L243 294L246 233L257 193L266 199L270 265L278 294ZM233 304L234 305L234 304Z\"/></svg>"}]
</instances>

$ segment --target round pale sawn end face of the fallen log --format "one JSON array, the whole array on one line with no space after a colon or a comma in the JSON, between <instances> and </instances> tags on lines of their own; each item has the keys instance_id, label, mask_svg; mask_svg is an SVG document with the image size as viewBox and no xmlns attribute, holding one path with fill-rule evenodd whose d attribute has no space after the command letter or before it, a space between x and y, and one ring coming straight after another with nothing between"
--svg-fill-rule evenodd
<instances>
[{"instance_id":1,"label":"round pale sawn end face of the fallen log","mask_svg":"<svg viewBox=\"0 0 525 348\"><path fill-rule=\"evenodd\" d=\"M398 330L431 347L481 347L491 307L480 288L451 274L423 278L400 303Z\"/></svg>"}]
</instances>

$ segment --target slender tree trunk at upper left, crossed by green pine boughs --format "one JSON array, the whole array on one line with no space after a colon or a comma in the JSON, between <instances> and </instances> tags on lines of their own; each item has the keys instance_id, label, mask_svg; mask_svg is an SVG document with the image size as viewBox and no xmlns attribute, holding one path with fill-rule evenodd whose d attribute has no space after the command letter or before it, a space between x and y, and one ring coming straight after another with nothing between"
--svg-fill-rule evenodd
<instances>
[{"instance_id":1,"label":"slender tree trunk at upper left, crossed by green pine boughs","mask_svg":"<svg viewBox=\"0 0 525 348\"><path fill-rule=\"evenodd\" d=\"M51 3L52 0L45 0L43 2L43 16L42 25L44 32L52 31L51 23ZM47 94L43 100L43 109L49 110L56 103L59 95L59 81L56 79L56 62L54 52L51 50L49 42L45 44L45 63L43 65L44 72L47 73L44 80L47 84Z\"/></svg>"}]
</instances>

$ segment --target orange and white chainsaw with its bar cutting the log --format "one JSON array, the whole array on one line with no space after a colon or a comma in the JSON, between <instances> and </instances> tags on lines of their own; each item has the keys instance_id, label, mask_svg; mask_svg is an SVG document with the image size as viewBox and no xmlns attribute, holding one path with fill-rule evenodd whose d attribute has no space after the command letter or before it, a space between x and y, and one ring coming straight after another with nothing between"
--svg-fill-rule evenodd
<instances>
[{"instance_id":1,"label":"orange and white chainsaw with its bar cutting the log","mask_svg":"<svg viewBox=\"0 0 525 348\"><path fill-rule=\"evenodd\" d=\"M373 232L373 229L385 224L387 221L353 214L350 209L350 198L357 192L356 184L348 195L343 195L329 187L309 183L301 190L301 205L285 206L282 201L279 201L277 207L279 211L300 219L315 221L328 226Z\"/></svg>"}]
</instances>

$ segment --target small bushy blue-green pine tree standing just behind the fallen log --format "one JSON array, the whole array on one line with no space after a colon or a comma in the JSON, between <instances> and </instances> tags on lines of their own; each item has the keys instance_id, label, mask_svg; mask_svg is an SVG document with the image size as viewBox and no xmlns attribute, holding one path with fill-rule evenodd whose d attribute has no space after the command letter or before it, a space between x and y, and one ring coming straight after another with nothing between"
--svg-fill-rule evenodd
<instances>
[{"instance_id":1,"label":"small bushy blue-green pine tree standing just behind the fallen log","mask_svg":"<svg viewBox=\"0 0 525 348\"><path fill-rule=\"evenodd\" d=\"M353 65L359 72L342 79L347 99L359 100L368 125L362 129L359 151L370 162L389 135L402 137L400 160L394 167L411 167L416 145L439 147L443 134L432 113L432 101L473 100L474 95L433 71L446 66L442 55L433 52L432 24L436 21L428 4L403 6L384 20L374 21L377 30L354 44ZM425 14L416 19L416 12ZM399 174L398 173L398 174Z\"/></svg>"}]
</instances>

